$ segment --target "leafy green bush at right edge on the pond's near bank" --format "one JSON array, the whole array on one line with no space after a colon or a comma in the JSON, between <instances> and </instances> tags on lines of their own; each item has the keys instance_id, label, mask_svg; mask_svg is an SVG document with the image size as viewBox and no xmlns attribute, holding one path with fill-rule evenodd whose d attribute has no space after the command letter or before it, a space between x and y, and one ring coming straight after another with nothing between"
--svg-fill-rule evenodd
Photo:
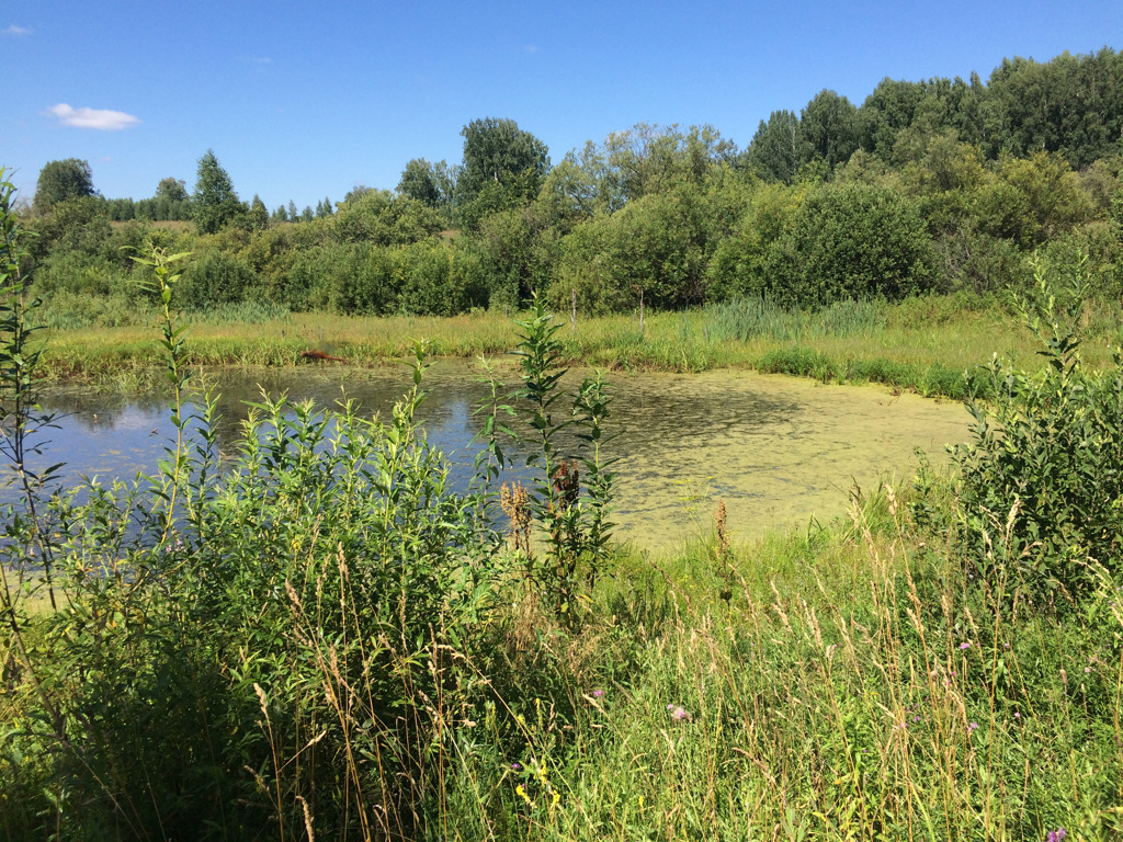
<instances>
[{"instance_id":1,"label":"leafy green bush at right edge on the pond's near bank","mask_svg":"<svg viewBox=\"0 0 1123 842\"><path fill-rule=\"evenodd\" d=\"M1041 341L1041 372L995 358L992 400L968 402L971 442L956 451L968 562L984 582L1012 577L1054 600L1093 586L1123 556L1123 355L1103 373L1079 354L1084 290L1053 292L1037 273L1017 306Z\"/></svg>"}]
</instances>

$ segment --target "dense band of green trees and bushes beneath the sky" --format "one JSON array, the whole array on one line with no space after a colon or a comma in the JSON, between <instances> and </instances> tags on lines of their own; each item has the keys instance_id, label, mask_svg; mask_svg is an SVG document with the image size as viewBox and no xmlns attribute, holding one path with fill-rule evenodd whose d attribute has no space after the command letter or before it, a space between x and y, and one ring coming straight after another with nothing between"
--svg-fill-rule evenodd
<instances>
[{"instance_id":1,"label":"dense band of green trees and bushes beneath the sky","mask_svg":"<svg viewBox=\"0 0 1123 842\"><path fill-rule=\"evenodd\" d=\"M458 164L410 161L395 190L270 211L214 153L193 192L106 199L83 161L48 163L31 275L56 327L124 323L143 293L125 247L192 251L181 305L448 315L538 292L583 312L742 296L815 308L1020 287L1032 260L1088 257L1123 286L1123 54L1007 60L984 82L823 90L743 149L711 126L641 123L551 162L510 119L465 126ZM177 222L177 223L175 223ZM193 223L193 225L192 225ZM143 308L141 308L143 309Z\"/></svg>"}]
</instances>

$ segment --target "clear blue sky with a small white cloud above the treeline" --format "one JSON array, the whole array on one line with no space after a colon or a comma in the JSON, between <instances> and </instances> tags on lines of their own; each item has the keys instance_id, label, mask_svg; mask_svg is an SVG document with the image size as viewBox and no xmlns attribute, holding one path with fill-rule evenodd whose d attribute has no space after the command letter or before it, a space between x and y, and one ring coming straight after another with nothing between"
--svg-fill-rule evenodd
<instances>
[{"instance_id":1,"label":"clear blue sky with a small white cloud above the treeline","mask_svg":"<svg viewBox=\"0 0 1123 842\"><path fill-rule=\"evenodd\" d=\"M0 165L83 158L106 196L194 186L212 148L271 208L393 189L512 118L554 161L646 121L747 146L824 88L984 80L1003 57L1123 48L1121 0L1069 2L80 2L0 4Z\"/></svg>"}]
</instances>

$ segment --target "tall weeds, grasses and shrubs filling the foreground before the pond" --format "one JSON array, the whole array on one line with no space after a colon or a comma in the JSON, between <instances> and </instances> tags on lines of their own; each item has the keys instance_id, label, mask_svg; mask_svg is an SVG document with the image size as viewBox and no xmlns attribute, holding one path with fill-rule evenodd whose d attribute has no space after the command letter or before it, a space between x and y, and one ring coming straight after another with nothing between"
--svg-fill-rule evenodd
<instances>
[{"instance_id":1,"label":"tall weeds, grasses and shrubs filling the foreground before the pond","mask_svg":"<svg viewBox=\"0 0 1123 842\"><path fill-rule=\"evenodd\" d=\"M466 489L417 423L420 346L386 418L263 400L220 464L159 251L175 434L75 502L21 458L49 419L8 219L8 838L1121 832L1123 360L1084 364L1043 275L1047 365L978 375L955 478L751 542L719 506L652 556L613 540L612 395L562 387L541 303ZM532 475L504 485L509 419Z\"/></svg>"}]
</instances>

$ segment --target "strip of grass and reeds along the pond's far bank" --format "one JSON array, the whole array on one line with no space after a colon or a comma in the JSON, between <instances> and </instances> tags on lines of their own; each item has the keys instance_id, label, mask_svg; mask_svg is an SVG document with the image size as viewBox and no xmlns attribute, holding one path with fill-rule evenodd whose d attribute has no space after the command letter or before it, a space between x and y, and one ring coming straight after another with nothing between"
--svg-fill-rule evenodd
<instances>
[{"instance_id":1,"label":"strip of grass and reeds along the pond's far bank","mask_svg":"<svg viewBox=\"0 0 1123 842\"><path fill-rule=\"evenodd\" d=\"M67 317L70 318L70 317ZM51 321L44 372L58 381L158 379L152 366L150 324L137 311L118 328ZM287 313L247 304L230 312L193 313L185 354L194 366L290 366L305 350L325 350L356 366L382 366L410 354L413 339L429 338L438 356L503 355L517 340L499 312L451 318L353 318ZM1117 303L1086 312L1089 365L1111 364L1121 338ZM67 324L73 329L63 329ZM993 355L1031 365L1033 338L1017 318L993 303L962 296L911 299L897 304L843 302L818 312L780 310L746 300L645 319L614 315L578 319L559 339L572 364L624 370L699 372L759 368L824 381L878 382L921 394L960 397L964 370ZM146 374L147 373L147 374Z\"/></svg>"}]
</instances>

